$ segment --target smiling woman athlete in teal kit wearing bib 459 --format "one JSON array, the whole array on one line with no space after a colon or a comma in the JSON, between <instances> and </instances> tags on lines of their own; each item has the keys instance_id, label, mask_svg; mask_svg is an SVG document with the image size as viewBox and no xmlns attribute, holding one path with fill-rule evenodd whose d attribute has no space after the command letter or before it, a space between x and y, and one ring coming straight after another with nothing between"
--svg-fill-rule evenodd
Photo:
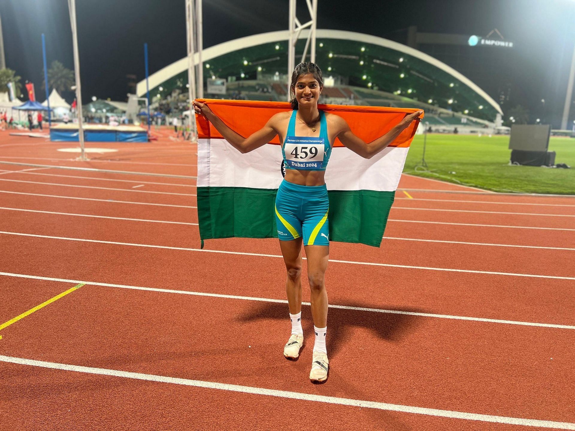
<instances>
[{"instance_id":1,"label":"smiling woman athlete in teal kit wearing bib 459","mask_svg":"<svg viewBox=\"0 0 575 431\"><path fill-rule=\"evenodd\" d=\"M313 382L323 382L328 375L325 348L327 332L327 293L325 270L329 259L328 194L324 175L335 138L358 155L369 159L387 147L423 111L405 116L392 130L367 144L351 132L347 122L317 108L323 89L321 70L315 63L300 63L292 74L291 111L275 114L262 129L249 137L240 136L210 110L205 103L194 101L196 113L204 115L234 148L250 152L269 143L276 135L282 144L285 178L275 200L279 247L287 270L286 293L289 303L292 335L283 355L296 359L304 336L301 327L301 245L308 258L308 280L313 325Z\"/></svg>"}]
</instances>

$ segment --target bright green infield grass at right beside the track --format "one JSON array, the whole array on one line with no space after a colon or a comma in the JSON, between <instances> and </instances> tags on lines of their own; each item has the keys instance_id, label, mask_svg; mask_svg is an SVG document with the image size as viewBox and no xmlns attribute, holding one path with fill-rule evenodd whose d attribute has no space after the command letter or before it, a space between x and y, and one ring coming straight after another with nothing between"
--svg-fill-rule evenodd
<instances>
[{"instance_id":1,"label":"bright green infield grass at right beside the track","mask_svg":"<svg viewBox=\"0 0 575 431\"><path fill-rule=\"evenodd\" d=\"M571 169L511 166L508 147L509 136L428 134L428 171L421 171L416 170L423 153L423 135L418 134L404 172L500 192L575 194L575 138L549 141L549 151L557 153L555 163L566 163Z\"/></svg>"}]
</instances>

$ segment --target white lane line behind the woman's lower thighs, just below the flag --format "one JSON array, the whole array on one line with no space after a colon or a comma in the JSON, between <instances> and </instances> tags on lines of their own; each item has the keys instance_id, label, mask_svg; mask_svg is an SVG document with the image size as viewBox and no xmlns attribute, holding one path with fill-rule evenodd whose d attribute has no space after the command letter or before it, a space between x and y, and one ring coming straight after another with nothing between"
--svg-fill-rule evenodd
<instances>
[{"instance_id":1,"label":"white lane line behind the woman's lower thighs, just below the flag","mask_svg":"<svg viewBox=\"0 0 575 431\"><path fill-rule=\"evenodd\" d=\"M32 234L32 233L20 233L20 232L0 231L0 234L28 236L28 237L36 237L36 238L48 238L48 239L53 239L53 240L82 241L85 243L129 245L131 247L160 248L160 249L168 249L168 250L183 250L183 251L194 251L194 252L204 252L204 253L222 253L225 255L278 257L280 259L283 259L282 255L266 255L266 254L262 254L262 253L232 252L232 251L223 251L223 250L206 250L206 249L200 249L200 248L171 247L168 245L118 243L116 241L86 240L83 238L69 238L69 237L61 237L61 236L36 235L36 234ZM307 259L307 258L304 257L303 259ZM533 277L533 278L547 278L547 279L558 279L558 280L575 280L575 277L564 277L564 276L559 276L559 275L517 274L516 272L457 270L454 268L419 267L419 266L414 266L414 265L395 265L395 264L390 264L390 263L357 262L357 261L353 261L353 260L337 260L337 259L329 259L329 261L332 263L348 263L348 264L354 264L354 265L368 265L368 266L389 267L389 268L407 268L407 269L411 269L411 270L466 272L469 274L492 274L492 275L508 275L508 276L515 276L515 277Z\"/></svg>"}]
</instances>

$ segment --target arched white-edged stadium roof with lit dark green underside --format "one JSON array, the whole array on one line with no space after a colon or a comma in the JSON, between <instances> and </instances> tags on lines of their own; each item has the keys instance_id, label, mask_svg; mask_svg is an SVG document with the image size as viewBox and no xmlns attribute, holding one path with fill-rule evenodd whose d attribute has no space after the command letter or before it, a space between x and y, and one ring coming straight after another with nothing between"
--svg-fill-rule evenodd
<instances>
[{"instance_id":1,"label":"arched white-edged stadium roof with lit dark green underside","mask_svg":"<svg viewBox=\"0 0 575 431\"><path fill-rule=\"evenodd\" d=\"M301 59L307 34L308 30L300 34L296 59ZM344 76L351 86L401 94L456 112L467 110L466 114L490 121L497 113L503 114L497 102L476 84L416 49L381 37L340 30L318 29L316 37L316 63L324 78ZM286 30L255 34L206 48L202 52L204 80L212 75L224 79L235 76L238 81L254 80L258 73L271 76L278 72L285 76L288 40ZM198 63L197 55L194 61ZM151 94L162 98L186 84L187 57L150 76ZM137 84L136 91L140 97L145 95L145 80Z\"/></svg>"}]
</instances>

